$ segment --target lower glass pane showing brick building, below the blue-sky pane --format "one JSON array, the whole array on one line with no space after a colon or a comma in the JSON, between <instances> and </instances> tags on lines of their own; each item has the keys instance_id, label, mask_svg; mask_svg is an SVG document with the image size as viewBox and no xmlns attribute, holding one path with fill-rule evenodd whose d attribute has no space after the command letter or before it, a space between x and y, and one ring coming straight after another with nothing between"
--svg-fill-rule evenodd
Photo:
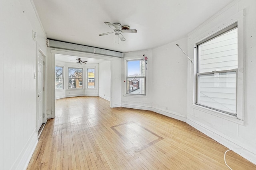
<instances>
[{"instance_id":1,"label":"lower glass pane showing brick building, below the blue-sky pane","mask_svg":"<svg viewBox=\"0 0 256 170\"><path fill-rule=\"evenodd\" d=\"M145 94L145 78L127 78L127 94Z\"/></svg>"}]
</instances>

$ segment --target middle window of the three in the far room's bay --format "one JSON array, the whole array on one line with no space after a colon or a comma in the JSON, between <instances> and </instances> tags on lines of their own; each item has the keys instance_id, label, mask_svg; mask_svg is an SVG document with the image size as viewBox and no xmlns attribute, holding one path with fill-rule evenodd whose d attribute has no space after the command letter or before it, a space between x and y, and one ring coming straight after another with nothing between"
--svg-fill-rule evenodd
<instances>
[{"instance_id":1,"label":"middle window of the three in the far room's bay","mask_svg":"<svg viewBox=\"0 0 256 170\"><path fill-rule=\"evenodd\" d=\"M68 88L83 88L83 69L68 68Z\"/></svg>"}]
</instances>

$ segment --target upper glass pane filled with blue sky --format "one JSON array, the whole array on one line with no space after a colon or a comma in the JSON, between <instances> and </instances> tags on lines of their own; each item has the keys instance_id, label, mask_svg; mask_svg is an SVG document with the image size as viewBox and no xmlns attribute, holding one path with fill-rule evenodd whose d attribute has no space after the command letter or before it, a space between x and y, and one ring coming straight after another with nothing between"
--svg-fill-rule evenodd
<instances>
[{"instance_id":1,"label":"upper glass pane filled with blue sky","mask_svg":"<svg viewBox=\"0 0 256 170\"><path fill-rule=\"evenodd\" d=\"M127 76L145 76L145 61L127 61Z\"/></svg>"}]
</instances>

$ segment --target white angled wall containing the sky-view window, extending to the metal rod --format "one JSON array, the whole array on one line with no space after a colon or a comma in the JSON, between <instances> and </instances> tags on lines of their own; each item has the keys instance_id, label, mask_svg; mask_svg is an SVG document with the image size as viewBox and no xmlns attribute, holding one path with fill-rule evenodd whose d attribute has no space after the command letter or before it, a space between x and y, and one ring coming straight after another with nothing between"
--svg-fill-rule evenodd
<instances>
[{"instance_id":1,"label":"white angled wall containing the sky-view window, extending to the metal rod","mask_svg":"<svg viewBox=\"0 0 256 170\"><path fill-rule=\"evenodd\" d=\"M152 110L186 121L187 65L190 61L176 45L187 51L187 38L161 47L124 53L122 80L126 80L126 60L148 57L146 70L146 96L126 94L122 86L122 107Z\"/></svg>"}]
</instances>

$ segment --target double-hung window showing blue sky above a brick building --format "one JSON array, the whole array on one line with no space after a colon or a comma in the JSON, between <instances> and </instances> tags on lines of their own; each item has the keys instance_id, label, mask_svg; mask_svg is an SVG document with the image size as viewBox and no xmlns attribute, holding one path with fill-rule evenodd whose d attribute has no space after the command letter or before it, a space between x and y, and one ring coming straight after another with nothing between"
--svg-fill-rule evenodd
<instances>
[{"instance_id":1,"label":"double-hung window showing blue sky above a brick building","mask_svg":"<svg viewBox=\"0 0 256 170\"><path fill-rule=\"evenodd\" d=\"M145 61L142 59L127 61L126 94L145 95Z\"/></svg>"}]
</instances>

